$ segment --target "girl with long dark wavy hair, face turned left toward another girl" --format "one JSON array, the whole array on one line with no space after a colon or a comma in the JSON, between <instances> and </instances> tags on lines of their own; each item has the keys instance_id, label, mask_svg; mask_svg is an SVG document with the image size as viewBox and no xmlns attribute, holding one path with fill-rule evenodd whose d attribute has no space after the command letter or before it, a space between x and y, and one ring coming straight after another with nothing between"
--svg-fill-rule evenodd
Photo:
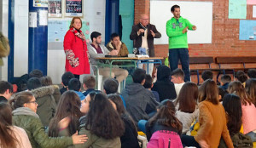
<instances>
[{"instance_id":1,"label":"girl with long dark wavy hair, face turned left toward another girl","mask_svg":"<svg viewBox=\"0 0 256 148\"><path fill-rule=\"evenodd\" d=\"M86 117L80 120L79 134L86 134L88 141L83 145L75 145L76 148L121 147L119 137L124 134L125 125L105 94L88 94L82 102L81 111L86 113Z\"/></svg>"}]
</instances>

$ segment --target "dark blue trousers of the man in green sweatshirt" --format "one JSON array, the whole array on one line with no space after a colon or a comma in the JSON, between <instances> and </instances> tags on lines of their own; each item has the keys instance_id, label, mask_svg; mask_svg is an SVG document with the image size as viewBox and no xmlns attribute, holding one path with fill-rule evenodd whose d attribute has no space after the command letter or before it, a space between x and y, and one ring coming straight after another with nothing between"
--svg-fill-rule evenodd
<instances>
[{"instance_id":1,"label":"dark blue trousers of the man in green sweatshirt","mask_svg":"<svg viewBox=\"0 0 256 148\"><path fill-rule=\"evenodd\" d=\"M183 72L185 74L185 82L190 81L190 71L189 71L189 50L188 48L170 48L169 49L169 63L171 71L177 69L178 60L183 67Z\"/></svg>"}]
</instances>

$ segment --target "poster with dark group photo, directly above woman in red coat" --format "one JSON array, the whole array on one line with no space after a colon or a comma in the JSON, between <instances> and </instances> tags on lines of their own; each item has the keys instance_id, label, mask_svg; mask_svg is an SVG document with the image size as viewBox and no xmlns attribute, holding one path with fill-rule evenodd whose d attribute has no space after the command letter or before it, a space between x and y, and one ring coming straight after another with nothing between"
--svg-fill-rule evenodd
<instances>
[{"instance_id":1,"label":"poster with dark group photo, directly above woman in red coat","mask_svg":"<svg viewBox=\"0 0 256 148\"><path fill-rule=\"evenodd\" d=\"M83 16L82 0L66 0L66 16Z\"/></svg>"}]
</instances>

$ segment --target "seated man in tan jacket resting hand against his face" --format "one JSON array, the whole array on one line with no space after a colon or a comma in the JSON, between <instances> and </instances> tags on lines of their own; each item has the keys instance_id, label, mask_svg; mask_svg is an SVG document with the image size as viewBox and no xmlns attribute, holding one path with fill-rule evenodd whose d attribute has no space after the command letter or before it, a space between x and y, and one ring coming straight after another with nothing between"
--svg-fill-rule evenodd
<instances>
[{"instance_id":1,"label":"seated man in tan jacket resting hand against his face","mask_svg":"<svg viewBox=\"0 0 256 148\"><path fill-rule=\"evenodd\" d=\"M107 48L109 51L117 50L119 57L125 57L129 54L128 49L125 43L120 41L120 37L117 33L113 33L111 36L111 41L107 44Z\"/></svg>"}]
</instances>

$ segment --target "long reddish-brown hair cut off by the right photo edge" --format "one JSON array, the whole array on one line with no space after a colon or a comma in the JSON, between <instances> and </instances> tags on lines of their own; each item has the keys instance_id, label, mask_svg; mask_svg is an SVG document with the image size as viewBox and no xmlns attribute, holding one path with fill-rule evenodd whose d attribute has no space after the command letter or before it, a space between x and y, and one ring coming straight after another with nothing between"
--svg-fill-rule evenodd
<instances>
[{"instance_id":1,"label":"long reddish-brown hair cut off by the right photo edge","mask_svg":"<svg viewBox=\"0 0 256 148\"><path fill-rule=\"evenodd\" d=\"M256 107L256 78L250 78L246 82L245 87L247 94L251 97L253 104Z\"/></svg>"}]
</instances>

